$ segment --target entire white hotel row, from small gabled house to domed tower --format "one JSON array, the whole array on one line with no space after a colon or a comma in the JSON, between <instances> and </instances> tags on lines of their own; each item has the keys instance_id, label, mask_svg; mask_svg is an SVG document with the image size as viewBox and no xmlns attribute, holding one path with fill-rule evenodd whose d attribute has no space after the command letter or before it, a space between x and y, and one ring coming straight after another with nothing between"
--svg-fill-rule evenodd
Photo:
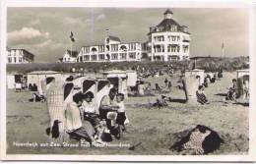
<instances>
[{"instance_id":1,"label":"entire white hotel row, from small gabled house to domed tower","mask_svg":"<svg viewBox=\"0 0 256 164\"><path fill-rule=\"evenodd\" d=\"M66 53L62 62L121 62L121 61L181 61L189 59L190 33L180 26L173 13L166 10L163 20L150 27L146 42L122 42L118 37L106 35L101 45L83 46L80 52ZM75 55L76 54L76 55Z\"/></svg>"}]
</instances>

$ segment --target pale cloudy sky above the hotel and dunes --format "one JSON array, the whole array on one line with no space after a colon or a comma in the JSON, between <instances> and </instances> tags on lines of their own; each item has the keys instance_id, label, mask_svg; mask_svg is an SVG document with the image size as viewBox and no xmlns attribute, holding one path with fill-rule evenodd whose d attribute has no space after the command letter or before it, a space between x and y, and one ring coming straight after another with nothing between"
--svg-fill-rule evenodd
<instances>
[{"instance_id":1,"label":"pale cloudy sky above the hotel and dunes","mask_svg":"<svg viewBox=\"0 0 256 164\"><path fill-rule=\"evenodd\" d=\"M248 56L249 12L245 8L169 8L189 27L190 56ZM26 48L35 62L56 62L75 37L73 50L103 43L105 29L123 42L147 41L149 27L160 24L166 8L8 8L7 46Z\"/></svg>"}]
</instances>

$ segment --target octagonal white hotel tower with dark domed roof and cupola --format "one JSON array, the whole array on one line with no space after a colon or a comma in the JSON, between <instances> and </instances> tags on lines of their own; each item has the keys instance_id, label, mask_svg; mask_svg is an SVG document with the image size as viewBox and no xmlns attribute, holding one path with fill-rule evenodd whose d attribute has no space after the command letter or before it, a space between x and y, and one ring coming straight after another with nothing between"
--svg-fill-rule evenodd
<instances>
[{"instance_id":1,"label":"octagonal white hotel tower with dark domed roof and cupola","mask_svg":"<svg viewBox=\"0 0 256 164\"><path fill-rule=\"evenodd\" d=\"M166 10L157 27L150 27L149 56L152 61L181 61L189 59L190 33L180 26Z\"/></svg>"}]
</instances>

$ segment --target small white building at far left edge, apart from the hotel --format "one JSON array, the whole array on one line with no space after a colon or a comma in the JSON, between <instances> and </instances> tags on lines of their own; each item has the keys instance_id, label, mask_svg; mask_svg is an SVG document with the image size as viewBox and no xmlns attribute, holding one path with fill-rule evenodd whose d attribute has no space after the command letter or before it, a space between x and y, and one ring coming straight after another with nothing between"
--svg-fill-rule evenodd
<instances>
[{"instance_id":1,"label":"small white building at far left edge, apart from the hotel","mask_svg":"<svg viewBox=\"0 0 256 164\"><path fill-rule=\"evenodd\" d=\"M8 64L32 63L34 55L26 49L7 49Z\"/></svg>"}]
</instances>

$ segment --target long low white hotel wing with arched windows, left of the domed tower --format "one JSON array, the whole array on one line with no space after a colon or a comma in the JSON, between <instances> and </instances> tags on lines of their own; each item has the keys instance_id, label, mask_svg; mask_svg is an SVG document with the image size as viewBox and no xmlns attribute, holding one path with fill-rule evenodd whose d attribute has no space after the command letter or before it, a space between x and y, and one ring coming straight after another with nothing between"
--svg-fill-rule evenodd
<instances>
[{"instance_id":1,"label":"long low white hotel wing with arched windows, left of the domed tower","mask_svg":"<svg viewBox=\"0 0 256 164\"><path fill-rule=\"evenodd\" d=\"M104 44L83 46L77 57L78 62L123 62L141 61L146 53L141 42L123 43L116 36L107 35Z\"/></svg>"}]
</instances>

